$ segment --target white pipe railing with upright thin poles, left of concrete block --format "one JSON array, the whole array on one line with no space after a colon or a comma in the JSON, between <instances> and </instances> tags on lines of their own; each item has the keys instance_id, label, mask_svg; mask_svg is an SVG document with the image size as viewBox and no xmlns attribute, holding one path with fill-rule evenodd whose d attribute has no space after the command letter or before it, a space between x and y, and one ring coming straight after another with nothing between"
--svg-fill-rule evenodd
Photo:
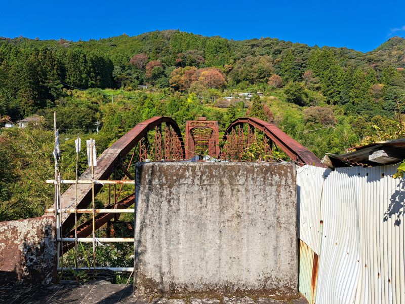
<instances>
[{"instance_id":1,"label":"white pipe railing with upright thin poles, left of concrete block","mask_svg":"<svg viewBox=\"0 0 405 304\"><path fill-rule=\"evenodd\" d=\"M63 264L63 253L67 252L70 248L73 247L73 242L74 242L74 263L75 263L75 270L98 270L98 269L108 269L111 271L116 271L116 272L133 272L134 268L133 267L107 267L107 266L99 266L96 267L96 245L102 243L116 243L116 242L132 242L135 244L135 238L118 238L118 237L97 237L96 236L96 230L101 227L105 222L102 221L99 225L96 226L96 214L115 214L119 216L119 213L132 213L133 218L134 218L134 227L135 227L135 208L128 208L132 204L135 203L135 195L132 195L131 198L133 200L130 200L127 202L127 205L121 205L118 208L125 208L127 209L115 209L117 208L117 205L113 205L115 208L111 208L111 205L109 204L106 208L96 208L95 204L95 185L108 185L109 186L109 203L110 203L110 195L111 195L111 185L114 185L114 202L116 203L116 192L115 192L115 186L116 184L120 184L122 187L123 185L134 185L134 194L135 194L135 180L131 179L128 180L127 176L132 177L131 174L128 172L130 169L132 159L130 162L130 165L128 166L128 169L124 168L123 171L126 173L125 179L124 180L98 180L95 179L94 175L94 170L95 167L97 166L97 159L96 159L96 151L95 151L95 140L90 139L87 141L87 151L88 151L88 164L89 168L91 169L91 179L79 179L78 178L78 155L80 152L80 138L77 137L75 140L75 145L76 145L76 177L75 179L69 179L65 180L61 178L61 172L60 172L60 148L59 148L59 133L56 128L56 112L54 113L54 133L55 133L55 148L54 148L54 159L55 159L55 178L54 179L49 179L46 180L47 183L53 184L55 188L55 203L54 203L54 208L47 209L45 212L46 213L53 213L55 215L56 219L56 244L57 244L57 270L62 271L66 269ZM62 184L71 184L75 186L75 204L74 208L62 208L61 204L61 185ZM77 192L77 185L78 184L89 184L91 185L91 208L90 209L85 209L85 208L78 208L78 192ZM121 191L121 188L119 189L119 192ZM119 194L118 194L119 195ZM63 234L63 229L62 229L62 214L74 214L74 237L65 237ZM92 237L79 237L77 234L78 230L78 222L77 218L79 214L83 213L89 213L91 214L91 235ZM117 217L116 217L117 218ZM93 260L89 267L79 267L78 265L78 253L77 253L77 245L78 243L92 243L93 244ZM66 247L66 248L65 248ZM66 249L66 250L65 250ZM69 267L70 269L71 267Z\"/></svg>"}]
</instances>

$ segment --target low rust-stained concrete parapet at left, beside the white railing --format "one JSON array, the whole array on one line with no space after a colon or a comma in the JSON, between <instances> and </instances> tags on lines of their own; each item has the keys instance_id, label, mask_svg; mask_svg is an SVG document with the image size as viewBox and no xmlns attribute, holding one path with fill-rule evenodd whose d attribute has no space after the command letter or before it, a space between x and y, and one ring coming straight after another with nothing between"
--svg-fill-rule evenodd
<instances>
[{"instance_id":1,"label":"low rust-stained concrete parapet at left, beside the white railing","mask_svg":"<svg viewBox=\"0 0 405 304\"><path fill-rule=\"evenodd\" d=\"M55 218L0 222L0 284L49 284L55 278Z\"/></svg>"}]
</instances>

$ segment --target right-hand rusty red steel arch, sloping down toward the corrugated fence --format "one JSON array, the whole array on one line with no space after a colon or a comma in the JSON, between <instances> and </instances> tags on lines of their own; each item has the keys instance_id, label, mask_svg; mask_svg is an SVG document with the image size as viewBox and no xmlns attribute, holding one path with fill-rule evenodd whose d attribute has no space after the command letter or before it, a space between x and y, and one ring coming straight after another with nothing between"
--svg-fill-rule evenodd
<instances>
[{"instance_id":1,"label":"right-hand rusty red steel arch, sloping down toward the corrugated fence","mask_svg":"<svg viewBox=\"0 0 405 304\"><path fill-rule=\"evenodd\" d=\"M248 125L248 135L246 139L242 128L245 124ZM236 130L238 126L238 130ZM268 146L268 142L270 142L271 147L272 141L300 166L307 164L325 167L308 148L282 132L274 124L267 123L258 118L244 117L234 120L226 129L222 140L228 142L228 148L233 151L233 155L235 156L240 153L240 150L244 148L245 145L247 146L252 141L256 140L255 129L264 133L265 148ZM222 153L221 155L226 156L227 154L229 156L229 152Z\"/></svg>"}]
</instances>

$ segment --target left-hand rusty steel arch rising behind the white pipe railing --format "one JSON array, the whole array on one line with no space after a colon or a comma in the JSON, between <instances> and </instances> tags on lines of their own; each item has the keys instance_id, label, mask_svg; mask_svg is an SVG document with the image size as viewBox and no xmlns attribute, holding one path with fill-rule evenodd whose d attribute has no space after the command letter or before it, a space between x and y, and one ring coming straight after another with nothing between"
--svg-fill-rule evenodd
<instances>
[{"instance_id":1,"label":"left-hand rusty steel arch rising behind the white pipe railing","mask_svg":"<svg viewBox=\"0 0 405 304\"><path fill-rule=\"evenodd\" d=\"M165 136L162 134L162 124L165 123ZM155 130L155 140L151 147L148 142L148 132ZM139 143L139 161L145 161L148 157L148 152L153 153L156 160L184 160L185 149L181 131L177 123L170 117L153 117L144 122L139 123L133 129L128 131L124 136L115 141L109 148L97 158L97 166L94 168L94 179L108 179L115 168L121 164L121 160L125 158ZM151 150L152 149L152 150ZM132 155L132 159L135 155ZM131 162L132 162L131 159ZM130 162L130 165L131 165ZM121 168L127 174L126 168L121 165ZM88 168L80 177L80 179L91 179L91 169ZM95 184L95 194L97 194L102 185ZM129 207L133 204L134 197L129 196L117 202L115 208ZM78 184L77 185L77 208L86 208L92 201L92 185ZM125 203L125 204L124 204ZM75 206L75 185L71 185L61 198L62 209L74 208ZM78 214L79 215L79 214ZM112 213L100 214L97 217L104 218L98 222L101 226L107 220L114 216ZM74 224L74 213L62 214L62 232L64 235L69 234L71 227ZM73 231L74 232L74 231ZM71 232L70 232L71 233Z\"/></svg>"}]
</instances>

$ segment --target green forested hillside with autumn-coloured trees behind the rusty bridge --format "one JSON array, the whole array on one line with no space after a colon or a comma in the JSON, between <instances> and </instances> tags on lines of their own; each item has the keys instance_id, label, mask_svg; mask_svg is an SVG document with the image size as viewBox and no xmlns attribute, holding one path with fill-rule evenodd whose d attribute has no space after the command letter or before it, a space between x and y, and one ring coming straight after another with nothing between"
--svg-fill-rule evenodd
<instances>
[{"instance_id":1,"label":"green forested hillside with autumn-coloured trees behind the rusty bridge","mask_svg":"<svg viewBox=\"0 0 405 304\"><path fill-rule=\"evenodd\" d=\"M51 193L33 189L52 176L52 132L46 129L52 129L54 110L65 178L73 178L77 134L96 138L100 152L137 123L160 115L181 128L206 116L218 120L221 131L236 117L258 117L321 158L405 137L404 68L401 37L368 53L178 30L78 42L2 38L3 123L36 114L45 118L45 130L0 134L0 220L38 215L51 203ZM258 91L262 98L223 99ZM97 123L100 132L94 134ZM82 161L84 168L85 156Z\"/></svg>"}]
</instances>

